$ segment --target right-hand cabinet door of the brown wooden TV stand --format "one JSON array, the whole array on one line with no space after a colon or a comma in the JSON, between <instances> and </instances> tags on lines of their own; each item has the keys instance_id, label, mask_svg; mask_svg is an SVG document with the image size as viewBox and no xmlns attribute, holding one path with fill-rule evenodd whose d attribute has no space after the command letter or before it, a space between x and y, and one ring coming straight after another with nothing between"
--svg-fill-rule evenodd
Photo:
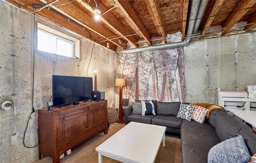
<instances>
[{"instance_id":1,"label":"right-hand cabinet door of the brown wooden TV stand","mask_svg":"<svg viewBox=\"0 0 256 163\"><path fill-rule=\"evenodd\" d=\"M88 112L88 128L105 120L105 106L94 108ZM103 127L103 126L102 126Z\"/></svg>"}]
</instances>

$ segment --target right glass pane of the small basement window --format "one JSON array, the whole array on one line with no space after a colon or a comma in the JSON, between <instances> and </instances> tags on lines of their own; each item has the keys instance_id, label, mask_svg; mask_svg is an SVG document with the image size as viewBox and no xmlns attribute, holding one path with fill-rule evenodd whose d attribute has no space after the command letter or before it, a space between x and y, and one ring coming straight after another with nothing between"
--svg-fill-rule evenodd
<instances>
[{"instance_id":1,"label":"right glass pane of the small basement window","mask_svg":"<svg viewBox=\"0 0 256 163\"><path fill-rule=\"evenodd\" d=\"M73 46L72 43L66 42L61 39L57 39L57 54L64 55L67 57L73 57Z\"/></svg>"}]
</instances>

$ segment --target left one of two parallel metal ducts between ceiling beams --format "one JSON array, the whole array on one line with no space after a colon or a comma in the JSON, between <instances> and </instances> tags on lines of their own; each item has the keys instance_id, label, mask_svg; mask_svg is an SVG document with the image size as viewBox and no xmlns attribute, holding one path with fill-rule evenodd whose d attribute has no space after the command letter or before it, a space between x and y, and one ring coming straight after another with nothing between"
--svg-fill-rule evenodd
<instances>
[{"instance_id":1,"label":"left one of two parallel metal ducts between ceiling beams","mask_svg":"<svg viewBox=\"0 0 256 163\"><path fill-rule=\"evenodd\" d=\"M191 35L193 33L194 25L196 22L196 16L198 13L198 8L200 5L200 0L192 0L189 2L189 12L188 12L188 24L187 24L187 35Z\"/></svg>"}]
</instances>

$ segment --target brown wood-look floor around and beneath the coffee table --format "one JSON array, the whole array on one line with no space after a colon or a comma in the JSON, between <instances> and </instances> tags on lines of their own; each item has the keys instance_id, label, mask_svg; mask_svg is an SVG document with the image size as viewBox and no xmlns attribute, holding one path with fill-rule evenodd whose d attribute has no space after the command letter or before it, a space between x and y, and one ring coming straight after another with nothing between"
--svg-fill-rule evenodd
<instances>
[{"instance_id":1,"label":"brown wood-look floor around and beneath the coffee table","mask_svg":"<svg viewBox=\"0 0 256 163\"><path fill-rule=\"evenodd\" d=\"M103 143L110 136L114 135L118 130L123 128L125 124L112 124L108 130L108 134L100 132L83 143L72 148L72 153L66 155L60 160L60 163L98 163L98 152L95 150L98 145ZM155 163L181 163L182 153L180 145L180 137L174 134L165 134L165 147L160 145ZM120 150L125 150L125 147ZM104 163L121 163L114 159L103 156ZM36 160L34 163L52 163L52 158L44 157L44 159Z\"/></svg>"}]
</instances>

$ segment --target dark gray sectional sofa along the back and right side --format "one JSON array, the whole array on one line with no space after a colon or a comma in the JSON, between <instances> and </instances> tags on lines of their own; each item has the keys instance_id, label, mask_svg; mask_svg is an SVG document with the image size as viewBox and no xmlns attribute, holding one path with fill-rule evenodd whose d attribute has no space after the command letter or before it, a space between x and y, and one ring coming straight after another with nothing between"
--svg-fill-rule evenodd
<instances>
[{"instance_id":1,"label":"dark gray sectional sofa along the back and right side","mask_svg":"<svg viewBox=\"0 0 256 163\"><path fill-rule=\"evenodd\" d=\"M200 124L194 120L188 121L176 117L180 102L154 101L153 103L156 116L131 114L132 105L126 106L124 123L140 122L166 126L166 132L180 134L183 163L207 163L208 152L214 145L238 134L244 138L250 155L256 153L256 134L246 124L230 116L226 110L212 110L209 118Z\"/></svg>"}]
</instances>

